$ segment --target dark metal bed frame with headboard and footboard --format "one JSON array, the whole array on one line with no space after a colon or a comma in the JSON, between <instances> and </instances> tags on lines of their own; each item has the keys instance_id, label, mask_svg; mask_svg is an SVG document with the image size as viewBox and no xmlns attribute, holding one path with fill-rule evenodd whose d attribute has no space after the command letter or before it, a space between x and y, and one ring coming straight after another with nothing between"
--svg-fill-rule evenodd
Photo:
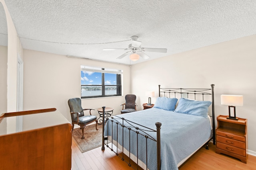
<instances>
[{"instance_id":1,"label":"dark metal bed frame with headboard and footboard","mask_svg":"<svg viewBox=\"0 0 256 170\"><path fill-rule=\"evenodd\" d=\"M211 84L211 88L208 88L208 89L195 89L195 88L160 88L160 85L158 85L158 88L159 88L159 97L161 96L160 94L164 94L164 97L171 97L172 95L174 95L174 97L176 98L176 94L180 94L180 98L182 98L182 94L185 94L187 96L187 98L189 97L189 95L194 95L194 99L196 100L196 95L202 95L202 100L204 100L204 95L212 95L212 138L210 140L213 140L213 145L215 145L215 116L214 116L214 84ZM105 113L105 106L102 106L102 110L103 110L103 113ZM108 116L106 116L108 115ZM117 126L121 126L122 127L122 143L124 143L124 128L127 128L129 130L129 146L131 145L130 143L130 133L136 133L137 134L137 155L138 155L138 135L142 135L146 138L146 169L148 169L148 152L147 152L147 140L153 140L156 142L156 148L157 148L157 170L160 170L160 167L161 167L161 143L160 143L160 129L161 129L161 125L162 123L160 122L156 122L155 125L156 125L156 130L154 129L150 129L148 127L145 127L143 125L140 125L138 123L135 123L135 122L132 122L132 121L129 121L129 120L126 120L124 119L123 117L120 117L121 115L119 116L116 116L116 115L113 115L113 114L103 114L102 115L102 120L105 120L106 118L106 121L110 119L111 123L108 123L107 126L109 126L111 124L111 126L113 127L113 124L116 123ZM118 122L117 120L122 120L120 122ZM106 122L105 121L105 122ZM110 122L108 121L108 122ZM129 125L124 125L124 122L128 123ZM138 126L140 126L141 128L139 128ZM113 149L113 139L110 139L110 141L108 140L108 137L105 137L104 136L104 130L105 130L105 126L103 125L102 126L102 150L105 150L105 145L106 147L110 148L113 152L115 152L115 154L117 156L119 156L123 161L125 161L128 166L131 166L132 168L134 169L139 169L139 165L138 165L138 156L137 156L137 162L135 162L137 164L137 167L133 167L131 162L132 162L132 159L131 159L131 153L130 153L130 149L128 150L129 151L129 155L128 156L128 160L126 160L124 158L124 147L123 146L120 146L121 148L121 152L122 154L120 155L118 153L118 140L116 141L116 149ZM118 128L116 128L117 130L117 134L118 134ZM112 129L113 131L113 129ZM156 139L150 135L148 135L148 132L155 132L156 133ZM107 131L108 133L108 131ZM146 135L145 135L146 134ZM118 136L117 136L117 139L118 139ZM208 149L208 143L210 142L207 141L204 145L206 145L206 149ZM109 145L111 144L111 145ZM183 163L184 164L184 163Z\"/></svg>"}]
</instances>

